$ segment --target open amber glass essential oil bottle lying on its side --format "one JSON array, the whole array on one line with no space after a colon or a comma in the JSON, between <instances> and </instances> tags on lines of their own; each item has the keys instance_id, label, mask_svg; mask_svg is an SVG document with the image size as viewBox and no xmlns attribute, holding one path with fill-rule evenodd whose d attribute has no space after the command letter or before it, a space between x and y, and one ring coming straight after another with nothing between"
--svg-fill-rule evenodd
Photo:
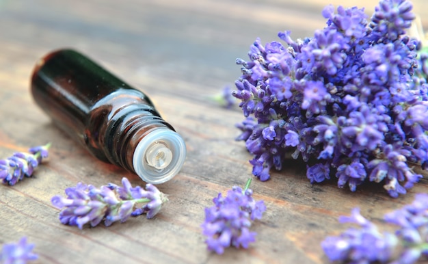
<instances>
[{"instance_id":1,"label":"open amber glass essential oil bottle lying on its side","mask_svg":"<svg viewBox=\"0 0 428 264\"><path fill-rule=\"evenodd\" d=\"M36 103L55 124L102 161L164 183L183 166L183 138L143 92L77 51L53 51L31 78Z\"/></svg>"}]
</instances>

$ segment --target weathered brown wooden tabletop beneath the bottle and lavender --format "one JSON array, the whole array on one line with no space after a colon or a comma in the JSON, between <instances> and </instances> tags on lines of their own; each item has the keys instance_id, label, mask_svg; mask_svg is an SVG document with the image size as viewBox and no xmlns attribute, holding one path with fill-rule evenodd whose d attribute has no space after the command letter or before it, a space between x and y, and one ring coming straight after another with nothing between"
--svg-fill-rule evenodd
<instances>
[{"instance_id":1,"label":"weathered brown wooden tabletop beneath the bottle and lavender","mask_svg":"<svg viewBox=\"0 0 428 264\"><path fill-rule=\"evenodd\" d=\"M409 194L390 198L382 186L357 192L334 181L311 186L305 166L286 162L267 182L253 181L254 197L265 200L255 222L256 243L222 256L206 250L200 224L204 207L219 192L244 185L252 176L243 142L235 142L241 109L209 100L240 75L235 58L246 59L250 44L312 36L325 21L327 3L365 6L373 1L204 0L204 1L0 1L0 157L52 142L49 161L34 177L13 187L0 185L0 244L27 236L40 258L34 263L326 263L320 242L338 234L337 217L353 207L380 222L384 213L428 191L423 179ZM428 29L428 2L414 1ZM133 217L106 228L59 223L51 197L79 181L100 186L137 176L97 161L57 129L29 93L36 60L53 49L72 47L144 90L163 118L183 135L187 160L159 189L170 202L152 220Z\"/></svg>"}]
</instances>

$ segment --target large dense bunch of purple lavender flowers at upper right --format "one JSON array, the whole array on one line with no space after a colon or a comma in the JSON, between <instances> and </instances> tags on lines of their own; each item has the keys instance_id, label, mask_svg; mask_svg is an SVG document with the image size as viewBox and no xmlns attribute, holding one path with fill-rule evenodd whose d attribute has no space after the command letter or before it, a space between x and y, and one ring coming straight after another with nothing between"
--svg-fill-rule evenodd
<instances>
[{"instance_id":1,"label":"large dense bunch of purple lavender flowers at upper right","mask_svg":"<svg viewBox=\"0 0 428 264\"><path fill-rule=\"evenodd\" d=\"M366 21L363 9L328 5L324 29L288 44L260 40L233 96L246 119L238 140L254 155L253 174L269 179L286 153L307 164L310 183L338 178L351 191L364 181L405 194L428 168L428 85L418 64L420 42L405 36L414 14L406 0L381 0ZM401 185L400 183L404 184Z\"/></svg>"}]
</instances>

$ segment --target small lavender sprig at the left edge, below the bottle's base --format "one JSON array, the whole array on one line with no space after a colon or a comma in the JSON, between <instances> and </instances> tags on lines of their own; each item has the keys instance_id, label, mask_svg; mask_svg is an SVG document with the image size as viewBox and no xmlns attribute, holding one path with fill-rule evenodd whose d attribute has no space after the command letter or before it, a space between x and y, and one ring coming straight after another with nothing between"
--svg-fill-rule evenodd
<instances>
[{"instance_id":1,"label":"small lavender sprig at the left edge, below the bottle's base","mask_svg":"<svg viewBox=\"0 0 428 264\"><path fill-rule=\"evenodd\" d=\"M42 159L48 157L48 149L51 143L44 146L30 148L29 153L14 153L12 157L0 160L0 180L9 185L15 185L18 181L24 179L24 176L30 177Z\"/></svg>"}]
</instances>

